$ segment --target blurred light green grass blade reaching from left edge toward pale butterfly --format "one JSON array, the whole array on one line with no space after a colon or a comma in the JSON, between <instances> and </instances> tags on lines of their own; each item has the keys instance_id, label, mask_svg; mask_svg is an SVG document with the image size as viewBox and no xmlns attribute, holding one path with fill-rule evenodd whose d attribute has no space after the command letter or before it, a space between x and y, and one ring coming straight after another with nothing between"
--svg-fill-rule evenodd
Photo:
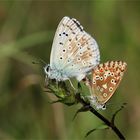
<instances>
[{"instance_id":1,"label":"blurred light green grass blade reaching from left edge toward pale butterfly","mask_svg":"<svg viewBox=\"0 0 140 140\"><path fill-rule=\"evenodd\" d=\"M13 41L11 43L1 45L0 58L5 57L14 57L15 54L18 54L23 49L30 48L48 42L51 39L52 31L49 32L38 32L36 34L31 34L25 36L19 40Z\"/></svg>"}]
</instances>

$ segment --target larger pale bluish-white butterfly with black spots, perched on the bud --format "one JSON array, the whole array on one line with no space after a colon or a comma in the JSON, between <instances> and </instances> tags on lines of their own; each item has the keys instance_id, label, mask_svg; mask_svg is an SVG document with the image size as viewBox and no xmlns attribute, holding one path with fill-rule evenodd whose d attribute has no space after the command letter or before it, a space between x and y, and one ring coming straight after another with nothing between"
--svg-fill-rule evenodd
<instances>
[{"instance_id":1,"label":"larger pale bluish-white butterfly with black spots, perched on the bud","mask_svg":"<svg viewBox=\"0 0 140 140\"><path fill-rule=\"evenodd\" d=\"M44 67L46 77L57 81L75 77L81 81L99 61L96 41L84 31L79 21L63 17L54 36L50 64Z\"/></svg>"}]
</instances>

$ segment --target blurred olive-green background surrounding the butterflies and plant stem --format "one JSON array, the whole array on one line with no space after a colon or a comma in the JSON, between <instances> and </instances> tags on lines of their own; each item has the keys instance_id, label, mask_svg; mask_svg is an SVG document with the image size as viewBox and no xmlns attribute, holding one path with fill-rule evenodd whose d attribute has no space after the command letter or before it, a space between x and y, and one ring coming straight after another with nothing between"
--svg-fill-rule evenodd
<instances>
[{"instance_id":1,"label":"blurred olive-green background surrounding the butterflies and plant stem","mask_svg":"<svg viewBox=\"0 0 140 140\"><path fill-rule=\"evenodd\" d=\"M140 2L126 0L1 0L0 1L0 139L80 140L102 122L89 112L72 121L80 107L49 104L43 92L41 58L49 63L59 21L74 17L98 42L101 62L124 60L127 72L108 102L106 117L122 103L116 125L128 140L140 139ZM92 133L91 139L118 139L112 130Z\"/></svg>"}]
</instances>

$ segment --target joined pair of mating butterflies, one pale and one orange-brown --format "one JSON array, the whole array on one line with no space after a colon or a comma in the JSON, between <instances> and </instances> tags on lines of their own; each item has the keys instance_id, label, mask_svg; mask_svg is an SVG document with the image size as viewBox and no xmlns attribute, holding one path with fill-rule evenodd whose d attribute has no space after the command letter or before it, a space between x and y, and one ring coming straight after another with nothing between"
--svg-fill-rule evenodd
<instances>
[{"instance_id":1,"label":"joined pair of mating butterflies, one pale and one orange-brown","mask_svg":"<svg viewBox=\"0 0 140 140\"><path fill-rule=\"evenodd\" d=\"M126 63L111 61L99 64L99 61L96 41L76 19L64 17L55 33L50 64L44 68L47 77L57 81L76 77L81 81L92 71L92 81L88 84L91 89L90 101L97 108L102 108L118 87Z\"/></svg>"}]
</instances>

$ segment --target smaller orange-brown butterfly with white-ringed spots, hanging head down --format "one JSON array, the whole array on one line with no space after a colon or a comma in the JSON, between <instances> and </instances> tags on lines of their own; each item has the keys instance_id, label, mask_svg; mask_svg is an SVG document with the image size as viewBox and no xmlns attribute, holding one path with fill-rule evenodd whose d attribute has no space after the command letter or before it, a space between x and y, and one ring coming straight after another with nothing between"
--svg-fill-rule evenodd
<instances>
[{"instance_id":1,"label":"smaller orange-brown butterfly with white-ringed spots, hanging head down","mask_svg":"<svg viewBox=\"0 0 140 140\"><path fill-rule=\"evenodd\" d=\"M104 109L105 103L108 102L119 86L126 67L126 62L108 61L93 69L92 80L89 83L90 101L97 109Z\"/></svg>"}]
</instances>

